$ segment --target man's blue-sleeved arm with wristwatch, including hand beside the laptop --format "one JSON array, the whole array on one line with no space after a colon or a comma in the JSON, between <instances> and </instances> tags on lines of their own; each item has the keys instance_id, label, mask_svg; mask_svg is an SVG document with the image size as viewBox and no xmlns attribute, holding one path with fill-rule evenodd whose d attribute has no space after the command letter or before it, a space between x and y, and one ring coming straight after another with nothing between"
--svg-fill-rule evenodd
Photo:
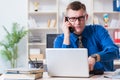
<instances>
[{"instance_id":1,"label":"man's blue-sleeved arm with wristwatch, including hand beside the laptop","mask_svg":"<svg viewBox=\"0 0 120 80\"><path fill-rule=\"evenodd\" d=\"M95 26L96 40L101 51L89 56L89 70L92 71L96 62L112 61L119 58L119 48L111 40L107 30L102 26Z\"/></svg>"}]
</instances>

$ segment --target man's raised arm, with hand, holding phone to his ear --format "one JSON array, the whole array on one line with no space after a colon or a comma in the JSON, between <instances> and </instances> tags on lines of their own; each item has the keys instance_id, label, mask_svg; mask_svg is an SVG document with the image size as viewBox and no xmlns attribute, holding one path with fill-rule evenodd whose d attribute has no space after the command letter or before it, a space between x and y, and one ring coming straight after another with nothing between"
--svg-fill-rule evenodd
<instances>
[{"instance_id":1,"label":"man's raised arm, with hand, holding phone to his ear","mask_svg":"<svg viewBox=\"0 0 120 80\"><path fill-rule=\"evenodd\" d=\"M63 35L59 36L54 41L54 48L69 48L70 47L70 31L71 23L63 19L62 31Z\"/></svg>"}]
</instances>

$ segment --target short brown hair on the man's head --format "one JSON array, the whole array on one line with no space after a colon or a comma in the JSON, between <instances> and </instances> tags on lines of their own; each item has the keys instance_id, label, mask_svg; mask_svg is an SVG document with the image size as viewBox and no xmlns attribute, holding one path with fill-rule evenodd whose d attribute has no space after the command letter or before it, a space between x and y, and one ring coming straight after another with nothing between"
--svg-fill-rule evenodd
<instances>
[{"instance_id":1,"label":"short brown hair on the man's head","mask_svg":"<svg viewBox=\"0 0 120 80\"><path fill-rule=\"evenodd\" d=\"M86 6L80 1L73 1L67 6L66 11L68 11L69 9L76 10L76 11L83 9L84 11L86 11Z\"/></svg>"}]
</instances>

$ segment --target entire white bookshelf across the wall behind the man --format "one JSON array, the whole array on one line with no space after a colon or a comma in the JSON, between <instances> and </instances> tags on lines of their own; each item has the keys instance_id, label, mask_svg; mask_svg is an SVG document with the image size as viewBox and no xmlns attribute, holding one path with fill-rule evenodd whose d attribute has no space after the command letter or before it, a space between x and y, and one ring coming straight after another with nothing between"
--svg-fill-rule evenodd
<instances>
[{"instance_id":1,"label":"entire white bookshelf across the wall behind the man","mask_svg":"<svg viewBox=\"0 0 120 80\"><path fill-rule=\"evenodd\" d=\"M44 59L46 34L62 33L61 26L65 8L72 1L74 0L28 0L28 56L31 56L30 49L40 49L39 54L32 55L41 56L38 60ZM108 14L108 27L105 28L114 41L115 31L120 30L120 24L115 26L111 22L113 20L120 21L120 12L113 11L113 0L81 0L81 2L87 7L88 24L101 24L104 26L103 15ZM38 5L35 7L35 4ZM94 22L96 17L99 23ZM32 41L31 38L33 38ZM120 47L120 42L116 42L116 44ZM33 60L35 60L35 57Z\"/></svg>"}]
</instances>

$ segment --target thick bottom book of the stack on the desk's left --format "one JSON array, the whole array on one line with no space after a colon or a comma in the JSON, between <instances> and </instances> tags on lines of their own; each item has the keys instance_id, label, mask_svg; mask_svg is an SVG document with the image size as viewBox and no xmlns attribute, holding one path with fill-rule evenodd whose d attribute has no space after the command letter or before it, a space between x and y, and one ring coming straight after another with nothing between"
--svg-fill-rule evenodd
<instances>
[{"instance_id":1,"label":"thick bottom book of the stack on the desk's left","mask_svg":"<svg viewBox=\"0 0 120 80\"><path fill-rule=\"evenodd\" d=\"M34 73L34 74L3 74L2 77L4 80L35 80L38 78L42 78L43 72Z\"/></svg>"}]
</instances>

